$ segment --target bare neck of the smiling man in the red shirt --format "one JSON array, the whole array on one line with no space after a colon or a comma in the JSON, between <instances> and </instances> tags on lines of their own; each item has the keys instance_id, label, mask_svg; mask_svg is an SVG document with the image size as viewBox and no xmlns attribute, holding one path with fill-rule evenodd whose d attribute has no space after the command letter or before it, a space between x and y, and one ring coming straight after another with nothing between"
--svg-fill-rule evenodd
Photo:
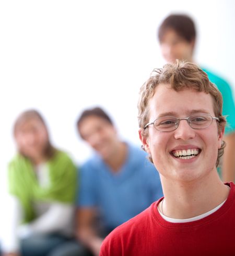
<instances>
[{"instance_id":1,"label":"bare neck of the smiling man in the red shirt","mask_svg":"<svg viewBox=\"0 0 235 256\"><path fill-rule=\"evenodd\" d=\"M226 200L229 187L224 185L216 170L196 182L169 182L161 178L164 203L159 205L164 215L188 219L208 212Z\"/></svg>"}]
</instances>

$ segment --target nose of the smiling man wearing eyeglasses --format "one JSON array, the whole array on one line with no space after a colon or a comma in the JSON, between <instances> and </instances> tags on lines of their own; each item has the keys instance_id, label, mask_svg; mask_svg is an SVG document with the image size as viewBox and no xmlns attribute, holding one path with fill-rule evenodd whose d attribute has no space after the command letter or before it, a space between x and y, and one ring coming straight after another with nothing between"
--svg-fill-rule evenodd
<instances>
[{"instance_id":1,"label":"nose of the smiling man wearing eyeglasses","mask_svg":"<svg viewBox=\"0 0 235 256\"><path fill-rule=\"evenodd\" d=\"M189 125L187 120L179 121L178 128L174 130L174 138L182 140L190 140L195 137L195 130Z\"/></svg>"}]
</instances>

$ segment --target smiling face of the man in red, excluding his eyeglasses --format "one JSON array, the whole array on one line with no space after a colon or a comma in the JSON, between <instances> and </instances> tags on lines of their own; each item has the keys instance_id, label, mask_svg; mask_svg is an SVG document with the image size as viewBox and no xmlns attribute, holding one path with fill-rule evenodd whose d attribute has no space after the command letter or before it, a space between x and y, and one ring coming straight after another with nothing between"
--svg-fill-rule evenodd
<instances>
[{"instance_id":1,"label":"smiling face of the man in red, excluding his eyeglasses","mask_svg":"<svg viewBox=\"0 0 235 256\"><path fill-rule=\"evenodd\" d=\"M215 117L209 94L189 89L176 92L165 84L156 87L148 107L149 122L161 116L184 118L197 113ZM147 129L148 136L142 137L142 143L159 173L167 179L193 181L216 171L223 133L218 134L216 120L202 130L192 129L186 120L181 120L179 127L169 132L158 131L153 125Z\"/></svg>"}]
</instances>

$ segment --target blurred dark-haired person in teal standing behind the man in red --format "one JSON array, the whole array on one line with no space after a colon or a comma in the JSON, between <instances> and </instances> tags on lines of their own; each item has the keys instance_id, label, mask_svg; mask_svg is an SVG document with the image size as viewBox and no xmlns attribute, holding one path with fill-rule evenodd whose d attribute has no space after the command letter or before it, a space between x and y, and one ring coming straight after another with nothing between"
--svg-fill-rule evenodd
<instances>
[{"instance_id":1,"label":"blurred dark-haired person in teal standing behind the man in red","mask_svg":"<svg viewBox=\"0 0 235 256\"><path fill-rule=\"evenodd\" d=\"M172 63L176 59L194 62L193 53L196 41L196 29L193 20L186 15L173 14L162 21L158 30L158 39L164 59ZM223 115L228 126L225 129L226 149L222 161L224 181L235 181L235 107L229 84L216 74L203 69L212 83L215 83L224 99ZM218 169L219 170L219 169Z\"/></svg>"}]
</instances>

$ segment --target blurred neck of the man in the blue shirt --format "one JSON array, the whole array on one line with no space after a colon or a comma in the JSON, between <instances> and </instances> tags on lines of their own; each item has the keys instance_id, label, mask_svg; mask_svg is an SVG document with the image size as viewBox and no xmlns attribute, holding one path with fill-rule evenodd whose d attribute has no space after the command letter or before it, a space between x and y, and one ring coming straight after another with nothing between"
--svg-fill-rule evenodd
<instances>
[{"instance_id":1,"label":"blurred neck of the man in the blue shirt","mask_svg":"<svg viewBox=\"0 0 235 256\"><path fill-rule=\"evenodd\" d=\"M118 172L126 161L126 155L127 145L120 141L117 143L116 148L110 155L109 159L104 160L104 162L109 165L113 172Z\"/></svg>"}]
</instances>

